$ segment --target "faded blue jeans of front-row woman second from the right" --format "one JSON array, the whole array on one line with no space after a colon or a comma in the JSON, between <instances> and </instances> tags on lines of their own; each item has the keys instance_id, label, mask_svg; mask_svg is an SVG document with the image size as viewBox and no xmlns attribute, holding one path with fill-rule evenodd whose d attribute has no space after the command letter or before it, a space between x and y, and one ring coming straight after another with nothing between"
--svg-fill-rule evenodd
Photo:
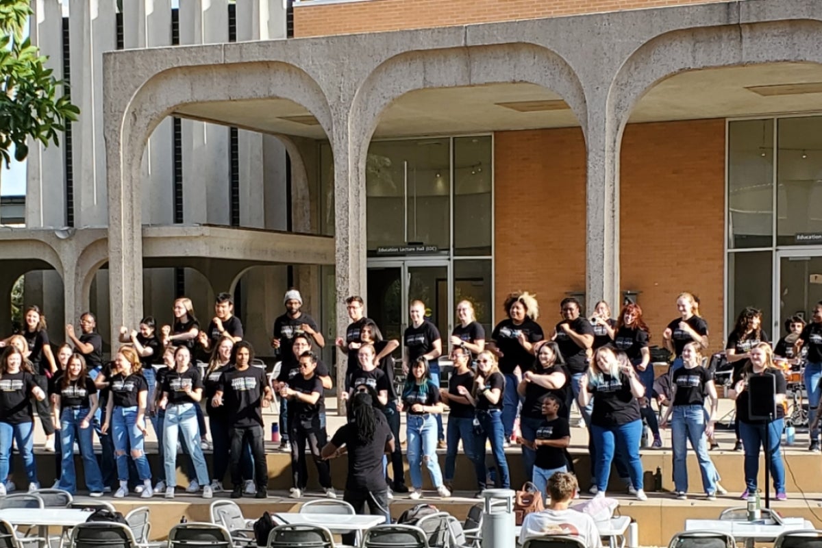
<instances>
[{"instance_id":1,"label":"faded blue jeans of front-row woman second from the right","mask_svg":"<svg viewBox=\"0 0 822 548\"><path fill-rule=\"evenodd\" d=\"M673 439L673 482L677 492L688 492L688 446L696 453L702 472L702 487L705 493L716 493L717 472L708 456L708 440L705 436L705 408L698 403L677 405L673 408L671 421Z\"/></svg>"}]
</instances>

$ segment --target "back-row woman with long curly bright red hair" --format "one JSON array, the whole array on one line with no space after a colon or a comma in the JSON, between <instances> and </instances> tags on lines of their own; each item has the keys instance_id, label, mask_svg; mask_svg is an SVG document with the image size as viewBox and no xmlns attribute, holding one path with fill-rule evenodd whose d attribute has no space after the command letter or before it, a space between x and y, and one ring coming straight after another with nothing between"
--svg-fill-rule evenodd
<instances>
[{"instance_id":1,"label":"back-row woman with long curly bright red hair","mask_svg":"<svg viewBox=\"0 0 822 548\"><path fill-rule=\"evenodd\" d=\"M622 307L613 338L614 345L626 353L636 370L636 376L639 377L645 387L645 397L640 400L640 413L653 432L652 447L661 448L663 442L659 437L657 415L651 407L653 366L651 365L651 352L648 349L648 341L651 336L648 332L648 325L645 325L645 321L642 319L642 307L640 305L630 302Z\"/></svg>"}]
</instances>

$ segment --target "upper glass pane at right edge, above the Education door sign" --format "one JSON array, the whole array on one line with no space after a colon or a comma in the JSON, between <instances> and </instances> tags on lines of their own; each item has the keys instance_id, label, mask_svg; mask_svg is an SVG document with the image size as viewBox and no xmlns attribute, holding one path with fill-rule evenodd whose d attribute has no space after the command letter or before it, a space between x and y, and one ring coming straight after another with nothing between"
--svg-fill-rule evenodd
<instances>
[{"instance_id":1,"label":"upper glass pane at right edge, above the Education door sign","mask_svg":"<svg viewBox=\"0 0 822 548\"><path fill-rule=\"evenodd\" d=\"M778 122L777 245L797 234L822 233L822 117Z\"/></svg>"}]
</instances>

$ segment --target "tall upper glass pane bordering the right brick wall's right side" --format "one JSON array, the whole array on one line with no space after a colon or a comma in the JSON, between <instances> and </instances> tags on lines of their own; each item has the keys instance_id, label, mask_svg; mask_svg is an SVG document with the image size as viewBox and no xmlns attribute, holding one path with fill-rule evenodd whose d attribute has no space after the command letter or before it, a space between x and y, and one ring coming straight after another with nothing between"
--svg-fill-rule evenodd
<instances>
[{"instance_id":1,"label":"tall upper glass pane bordering the right brick wall's right side","mask_svg":"<svg viewBox=\"0 0 822 548\"><path fill-rule=\"evenodd\" d=\"M728 248L774 245L774 121L728 124Z\"/></svg>"}]
</instances>

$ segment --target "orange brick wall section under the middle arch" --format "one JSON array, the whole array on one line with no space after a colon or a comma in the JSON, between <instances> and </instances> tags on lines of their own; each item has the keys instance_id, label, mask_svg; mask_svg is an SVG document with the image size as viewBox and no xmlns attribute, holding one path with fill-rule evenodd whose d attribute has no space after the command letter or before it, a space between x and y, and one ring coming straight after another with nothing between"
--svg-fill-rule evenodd
<instances>
[{"instance_id":1,"label":"orange brick wall section under the middle arch","mask_svg":"<svg viewBox=\"0 0 822 548\"><path fill-rule=\"evenodd\" d=\"M550 334L566 291L585 290L585 142L579 127L494 135L496 318L508 293L537 294Z\"/></svg>"}]
</instances>

